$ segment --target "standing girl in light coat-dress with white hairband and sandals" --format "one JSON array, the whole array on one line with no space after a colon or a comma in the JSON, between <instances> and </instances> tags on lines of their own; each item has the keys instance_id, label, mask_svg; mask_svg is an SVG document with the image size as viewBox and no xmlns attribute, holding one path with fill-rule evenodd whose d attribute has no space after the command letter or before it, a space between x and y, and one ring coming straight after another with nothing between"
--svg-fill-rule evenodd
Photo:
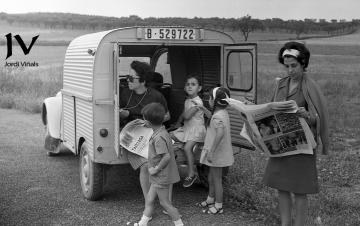
<instances>
[{"instance_id":1,"label":"standing girl in light coat-dress with white hairband and sandals","mask_svg":"<svg viewBox=\"0 0 360 226\"><path fill-rule=\"evenodd\" d=\"M224 100L229 97L229 90L222 87L216 87L210 92L209 105L213 115L200 157L200 163L209 166L209 193L205 201L196 204L205 208L203 212L208 214L223 213L222 169L234 163L230 119L226 110L228 102Z\"/></svg>"}]
</instances>

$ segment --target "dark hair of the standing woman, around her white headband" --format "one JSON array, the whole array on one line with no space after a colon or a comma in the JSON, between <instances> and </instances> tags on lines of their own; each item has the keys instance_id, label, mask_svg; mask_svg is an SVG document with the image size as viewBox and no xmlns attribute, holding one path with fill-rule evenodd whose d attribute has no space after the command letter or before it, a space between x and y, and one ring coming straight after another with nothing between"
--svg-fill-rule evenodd
<instances>
[{"instance_id":1,"label":"dark hair of the standing woman, around her white headband","mask_svg":"<svg viewBox=\"0 0 360 226\"><path fill-rule=\"evenodd\" d=\"M290 57L294 57L303 67L304 69L307 68L307 66L309 65L309 59L310 59L310 51L308 50L308 48L306 48L306 46L300 42L287 42L284 44L284 46L280 49L279 51L279 55L278 55L278 60L281 64L284 64L284 57L283 57L283 53L285 50L291 50L291 49L295 49L297 51L299 51L299 55L297 57L295 56L290 56ZM287 55L285 55L287 56Z\"/></svg>"}]
</instances>

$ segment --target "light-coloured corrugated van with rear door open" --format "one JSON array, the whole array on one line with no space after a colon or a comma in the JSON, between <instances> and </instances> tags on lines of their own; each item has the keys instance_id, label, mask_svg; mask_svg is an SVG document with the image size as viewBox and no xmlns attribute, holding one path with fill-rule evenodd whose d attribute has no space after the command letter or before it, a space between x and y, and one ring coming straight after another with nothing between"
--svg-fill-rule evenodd
<instances>
[{"instance_id":1,"label":"light-coloured corrugated van with rear door open","mask_svg":"<svg viewBox=\"0 0 360 226\"><path fill-rule=\"evenodd\" d=\"M127 27L75 38L66 51L63 87L44 100L45 147L51 155L65 146L80 154L80 183L89 200L101 197L105 164L118 158L121 78L133 60L150 63L161 73L165 96L176 121L181 114L187 75L198 74L203 87L221 85L231 97L256 102L257 46L235 43L220 31L188 27ZM243 121L229 109L232 142L250 148L240 137Z\"/></svg>"}]
</instances>

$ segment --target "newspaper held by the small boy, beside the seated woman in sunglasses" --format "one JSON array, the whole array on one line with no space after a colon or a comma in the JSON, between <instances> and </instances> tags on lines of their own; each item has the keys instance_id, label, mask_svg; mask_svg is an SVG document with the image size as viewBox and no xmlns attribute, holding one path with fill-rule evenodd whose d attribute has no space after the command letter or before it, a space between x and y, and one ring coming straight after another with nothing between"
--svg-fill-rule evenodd
<instances>
[{"instance_id":1,"label":"newspaper held by the small boy, beside the seated woman in sunglasses","mask_svg":"<svg viewBox=\"0 0 360 226\"><path fill-rule=\"evenodd\" d=\"M149 140L153 130L144 125L144 120L141 119L128 122L120 132L119 141L126 150L147 159Z\"/></svg>"}]
</instances>

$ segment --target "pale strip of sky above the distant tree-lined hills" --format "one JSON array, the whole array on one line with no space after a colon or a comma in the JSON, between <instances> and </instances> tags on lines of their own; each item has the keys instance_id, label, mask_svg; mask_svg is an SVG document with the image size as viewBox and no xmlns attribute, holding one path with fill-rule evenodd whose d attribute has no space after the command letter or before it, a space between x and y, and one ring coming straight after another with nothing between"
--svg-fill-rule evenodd
<instances>
[{"instance_id":1,"label":"pale strip of sky above the distant tree-lined hills","mask_svg":"<svg viewBox=\"0 0 360 226\"><path fill-rule=\"evenodd\" d=\"M360 0L13 0L0 12L64 12L122 17L360 19Z\"/></svg>"}]
</instances>

